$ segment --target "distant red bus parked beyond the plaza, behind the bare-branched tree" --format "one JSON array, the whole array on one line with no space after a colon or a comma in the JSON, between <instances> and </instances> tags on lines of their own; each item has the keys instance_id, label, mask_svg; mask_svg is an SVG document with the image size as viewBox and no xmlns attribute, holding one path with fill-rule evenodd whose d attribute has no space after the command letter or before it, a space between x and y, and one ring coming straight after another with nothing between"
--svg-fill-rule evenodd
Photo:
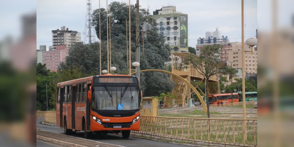
<instances>
[{"instance_id":1,"label":"distant red bus parked beyond the plaza, behind the bare-branched tree","mask_svg":"<svg viewBox=\"0 0 294 147\"><path fill-rule=\"evenodd\" d=\"M221 102L221 101L222 103L231 103L232 102L231 95L232 93L209 94L208 95L209 104L217 104L217 102ZM239 102L238 93L233 93L233 103L234 102Z\"/></svg>"}]
</instances>

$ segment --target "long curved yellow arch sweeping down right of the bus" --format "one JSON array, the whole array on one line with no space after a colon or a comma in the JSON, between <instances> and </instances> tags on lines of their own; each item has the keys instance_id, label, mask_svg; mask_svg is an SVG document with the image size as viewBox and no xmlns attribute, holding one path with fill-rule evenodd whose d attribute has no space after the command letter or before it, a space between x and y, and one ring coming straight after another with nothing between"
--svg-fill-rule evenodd
<instances>
[{"instance_id":1,"label":"long curved yellow arch sweeping down right of the bus","mask_svg":"<svg viewBox=\"0 0 294 147\"><path fill-rule=\"evenodd\" d=\"M198 96L198 98L201 101L201 104L202 104L202 107L203 107L204 112L207 112L207 107L205 105L205 102L204 102L202 96L200 95L200 93L196 90L196 88L190 82L188 82L187 80L185 80L181 76L179 76L177 74L174 74L174 73L171 73L169 71L164 71L164 70L159 70L159 69L146 69L146 70L141 70L140 72L146 72L146 71L162 72L162 73L166 73L166 74L170 74L170 75L176 76L177 78L181 79L183 82L185 82L196 93L196 95ZM135 74L135 73L136 72L133 72L132 74Z\"/></svg>"}]
</instances>

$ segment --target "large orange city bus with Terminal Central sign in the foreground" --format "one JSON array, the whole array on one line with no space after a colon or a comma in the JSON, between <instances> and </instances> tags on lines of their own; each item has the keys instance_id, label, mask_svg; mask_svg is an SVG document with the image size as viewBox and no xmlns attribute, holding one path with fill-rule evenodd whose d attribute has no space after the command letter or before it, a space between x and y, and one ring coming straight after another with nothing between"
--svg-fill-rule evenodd
<instances>
[{"instance_id":1,"label":"large orange city bus with Terminal Central sign in the foreground","mask_svg":"<svg viewBox=\"0 0 294 147\"><path fill-rule=\"evenodd\" d=\"M56 121L69 135L84 131L122 133L139 131L142 91L136 76L104 74L57 84Z\"/></svg>"}]
</instances>

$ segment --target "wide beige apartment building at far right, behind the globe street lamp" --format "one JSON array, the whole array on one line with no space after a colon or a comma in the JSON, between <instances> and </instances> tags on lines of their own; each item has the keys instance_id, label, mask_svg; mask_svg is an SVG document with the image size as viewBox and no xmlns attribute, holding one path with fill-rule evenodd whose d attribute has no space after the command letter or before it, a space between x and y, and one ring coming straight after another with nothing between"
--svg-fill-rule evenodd
<instances>
[{"instance_id":1,"label":"wide beige apartment building at far right, behind the globe street lamp","mask_svg":"<svg viewBox=\"0 0 294 147\"><path fill-rule=\"evenodd\" d=\"M233 42L232 50L228 51L228 66L235 69L242 69L242 44ZM250 51L251 47L245 44L245 50ZM231 63L232 62L232 63ZM245 52L245 74L257 74L257 49L253 47L253 53Z\"/></svg>"}]
</instances>

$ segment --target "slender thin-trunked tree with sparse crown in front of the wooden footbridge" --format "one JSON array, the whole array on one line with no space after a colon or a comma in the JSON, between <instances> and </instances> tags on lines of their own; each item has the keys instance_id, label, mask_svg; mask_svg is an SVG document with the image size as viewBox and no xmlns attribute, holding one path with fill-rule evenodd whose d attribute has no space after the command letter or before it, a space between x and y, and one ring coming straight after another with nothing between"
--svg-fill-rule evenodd
<instances>
[{"instance_id":1,"label":"slender thin-trunked tree with sparse crown in front of the wooden footbridge","mask_svg":"<svg viewBox=\"0 0 294 147\"><path fill-rule=\"evenodd\" d=\"M195 68L199 74L204 76L206 85L205 93L206 98L208 98L208 80L211 76L217 75L223 72L222 66L223 62L220 60L222 46L214 44L204 46L201 49L201 54L199 56L187 55L185 64ZM209 100L207 100L207 117L210 118L209 112Z\"/></svg>"}]
</instances>

